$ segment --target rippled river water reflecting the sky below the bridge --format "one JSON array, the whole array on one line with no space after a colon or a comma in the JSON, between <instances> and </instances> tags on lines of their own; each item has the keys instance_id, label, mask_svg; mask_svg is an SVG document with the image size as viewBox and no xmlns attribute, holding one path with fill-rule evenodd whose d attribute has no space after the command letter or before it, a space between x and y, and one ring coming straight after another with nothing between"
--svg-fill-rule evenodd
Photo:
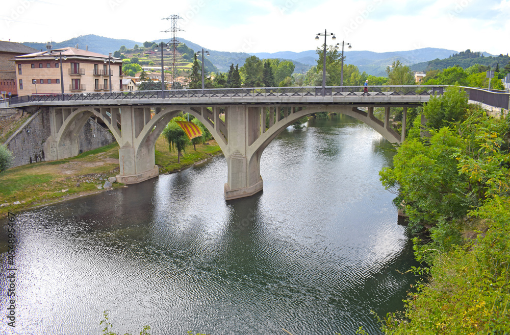
<instances>
[{"instance_id":1,"label":"rippled river water reflecting the sky below the bridge","mask_svg":"<svg viewBox=\"0 0 510 335\"><path fill-rule=\"evenodd\" d=\"M391 146L346 116L289 128L264 151L264 191L225 202L222 156L181 173L20 213L16 333L379 333L415 278ZM0 232L0 330L7 326Z\"/></svg>"}]
</instances>

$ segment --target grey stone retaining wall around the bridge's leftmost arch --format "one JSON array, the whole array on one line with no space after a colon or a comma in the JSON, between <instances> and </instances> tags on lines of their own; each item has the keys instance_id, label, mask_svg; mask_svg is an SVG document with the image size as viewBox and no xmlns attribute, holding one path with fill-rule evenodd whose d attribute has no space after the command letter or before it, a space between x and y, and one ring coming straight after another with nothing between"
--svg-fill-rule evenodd
<instances>
[{"instance_id":1,"label":"grey stone retaining wall around the bridge's leftmost arch","mask_svg":"<svg viewBox=\"0 0 510 335\"><path fill-rule=\"evenodd\" d=\"M50 135L49 115L41 111L7 143L7 148L14 154L12 167L44 161L44 142ZM89 118L78 141L80 152L85 152L109 145L115 138Z\"/></svg>"}]
</instances>

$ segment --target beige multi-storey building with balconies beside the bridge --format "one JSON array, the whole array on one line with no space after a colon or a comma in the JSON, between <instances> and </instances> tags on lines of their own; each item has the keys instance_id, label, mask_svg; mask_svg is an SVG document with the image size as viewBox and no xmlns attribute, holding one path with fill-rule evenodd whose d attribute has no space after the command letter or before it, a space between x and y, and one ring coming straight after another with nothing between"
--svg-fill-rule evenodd
<instances>
[{"instance_id":1,"label":"beige multi-storey building with balconies beside the bridge","mask_svg":"<svg viewBox=\"0 0 510 335\"><path fill-rule=\"evenodd\" d=\"M18 95L124 90L122 59L74 47L17 56L15 68Z\"/></svg>"}]
</instances>

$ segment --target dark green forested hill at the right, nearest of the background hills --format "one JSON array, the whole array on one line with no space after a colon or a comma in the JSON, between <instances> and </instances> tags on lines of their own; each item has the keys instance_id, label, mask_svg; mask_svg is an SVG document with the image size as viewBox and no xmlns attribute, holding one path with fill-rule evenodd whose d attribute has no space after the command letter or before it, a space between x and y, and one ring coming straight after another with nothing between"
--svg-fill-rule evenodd
<instances>
[{"instance_id":1,"label":"dark green forested hill at the right, nearest of the background hills","mask_svg":"<svg viewBox=\"0 0 510 335\"><path fill-rule=\"evenodd\" d=\"M411 66L413 71L429 71L429 70L440 70L452 66L460 66L462 68L468 68L474 64L490 66L491 69L496 68L497 64L500 67L504 67L510 62L508 55L499 56L487 56L486 53L472 52L471 50L462 51L458 54L452 54L448 58L430 60L428 62L421 62Z\"/></svg>"}]
</instances>

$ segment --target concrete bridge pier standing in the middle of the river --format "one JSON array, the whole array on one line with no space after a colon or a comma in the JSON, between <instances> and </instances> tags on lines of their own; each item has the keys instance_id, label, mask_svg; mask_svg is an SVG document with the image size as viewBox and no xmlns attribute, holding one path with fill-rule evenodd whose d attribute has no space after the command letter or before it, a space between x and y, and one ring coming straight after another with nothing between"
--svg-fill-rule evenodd
<instances>
[{"instance_id":1,"label":"concrete bridge pier standing in the middle of the river","mask_svg":"<svg viewBox=\"0 0 510 335\"><path fill-rule=\"evenodd\" d=\"M228 107L228 145L223 152L228 166L228 182L224 187L226 200L248 197L263 188L260 159L257 153L249 151L249 146L260 136L262 112L265 113L265 108Z\"/></svg>"}]
</instances>

